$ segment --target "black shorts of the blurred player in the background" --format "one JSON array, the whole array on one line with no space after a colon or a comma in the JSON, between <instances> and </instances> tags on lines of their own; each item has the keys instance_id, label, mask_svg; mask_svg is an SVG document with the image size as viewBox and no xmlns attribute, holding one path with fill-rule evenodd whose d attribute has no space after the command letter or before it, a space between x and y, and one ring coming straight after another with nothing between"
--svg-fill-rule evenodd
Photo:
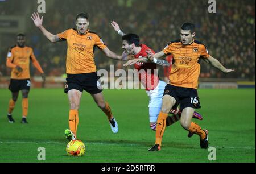
<instances>
[{"instance_id":1,"label":"black shorts of the blurred player in the background","mask_svg":"<svg viewBox=\"0 0 256 174\"><path fill-rule=\"evenodd\" d=\"M10 81L10 85L9 85L9 90L11 92L19 92L19 90L30 90L30 79L22 79L22 80L18 80L18 79L11 79Z\"/></svg>"}]
</instances>

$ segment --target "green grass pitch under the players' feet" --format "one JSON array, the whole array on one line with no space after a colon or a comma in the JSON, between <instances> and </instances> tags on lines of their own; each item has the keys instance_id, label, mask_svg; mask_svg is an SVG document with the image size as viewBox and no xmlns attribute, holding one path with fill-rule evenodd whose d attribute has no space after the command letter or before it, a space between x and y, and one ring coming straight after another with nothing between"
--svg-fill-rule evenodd
<instances>
[{"instance_id":1,"label":"green grass pitch under the players' feet","mask_svg":"<svg viewBox=\"0 0 256 174\"><path fill-rule=\"evenodd\" d=\"M21 94L7 122L11 93L0 90L0 162L38 161L38 148L46 149L46 162L255 162L255 89L200 89L204 119L196 121L209 130L209 146L216 148L216 161L208 160L199 137L187 138L180 123L167 127L162 151L148 152L155 132L148 121L148 97L144 90L104 90L118 121L113 134L106 116L84 92L79 110L78 138L86 146L81 158L65 152L69 104L63 89L31 89L28 125L20 123Z\"/></svg>"}]
</instances>

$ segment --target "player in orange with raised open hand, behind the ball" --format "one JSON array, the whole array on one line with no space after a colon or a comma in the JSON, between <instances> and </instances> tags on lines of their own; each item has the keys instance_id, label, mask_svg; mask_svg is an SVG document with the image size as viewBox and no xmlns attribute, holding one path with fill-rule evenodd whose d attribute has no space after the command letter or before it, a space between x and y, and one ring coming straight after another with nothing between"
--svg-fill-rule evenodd
<instances>
[{"instance_id":1,"label":"player in orange with raised open hand, behind the ball","mask_svg":"<svg viewBox=\"0 0 256 174\"><path fill-rule=\"evenodd\" d=\"M100 77L97 76L94 63L94 51L98 48L111 59L123 60L124 57L110 51L102 42L100 36L88 30L89 19L86 13L77 15L76 29L68 29L57 35L51 34L42 26L43 16L40 18L38 13L34 13L31 18L35 26L43 32L49 41L52 43L67 41L68 44L66 61L68 78L64 90L68 94L70 103L69 130L65 130L67 139L76 139L77 125L79 123L78 110L83 90L91 94L98 107L107 115L112 131L117 133L117 122L113 117L109 104L105 102L102 95Z\"/></svg>"}]
</instances>

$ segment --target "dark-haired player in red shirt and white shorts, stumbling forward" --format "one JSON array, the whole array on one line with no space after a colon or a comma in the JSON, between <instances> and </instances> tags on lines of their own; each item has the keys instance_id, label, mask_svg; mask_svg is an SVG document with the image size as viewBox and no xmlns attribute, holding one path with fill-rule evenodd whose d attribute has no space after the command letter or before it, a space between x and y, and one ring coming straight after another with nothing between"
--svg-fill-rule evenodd
<instances>
[{"instance_id":1,"label":"dark-haired player in red shirt and white shorts, stumbling forward","mask_svg":"<svg viewBox=\"0 0 256 174\"><path fill-rule=\"evenodd\" d=\"M158 118L158 114L162 106L164 88L167 85L164 81L159 80L158 73L156 72L156 65L158 64L168 69L169 67L171 67L171 65L170 63L168 63L168 61L164 59L152 63L150 60L145 58L147 56L146 50L150 49L152 52L154 51L151 48L147 47L147 45L140 44L139 36L135 34L123 33L120 30L120 27L117 22L112 21L111 24L114 30L122 36L122 48L125 50L127 54L134 55L135 59L130 60L135 62L134 68L138 71L144 70L142 73L139 74L139 81L141 81L142 85L146 88L147 95L150 98L148 105L150 128L155 131L156 120ZM129 63L127 63L127 65L129 65ZM167 126L170 126L172 123L175 123L180 120L181 113L179 111L179 108L175 107L174 109L171 109L170 114L174 114L174 116L168 117ZM193 117L197 119L203 119L201 115L196 112L194 113ZM188 136L190 137L192 136L192 134L189 134Z\"/></svg>"}]
</instances>

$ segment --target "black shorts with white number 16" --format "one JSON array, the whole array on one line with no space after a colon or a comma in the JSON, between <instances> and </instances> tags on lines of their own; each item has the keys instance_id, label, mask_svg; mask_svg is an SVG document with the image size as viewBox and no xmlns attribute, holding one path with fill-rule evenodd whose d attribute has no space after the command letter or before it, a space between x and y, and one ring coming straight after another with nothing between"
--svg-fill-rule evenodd
<instances>
[{"instance_id":1,"label":"black shorts with white number 16","mask_svg":"<svg viewBox=\"0 0 256 174\"><path fill-rule=\"evenodd\" d=\"M177 87L168 84L166 85L166 89L164 89L163 95L174 97L177 101L176 104L180 104L180 110L183 110L186 107L192 107L195 109L201 108L196 89Z\"/></svg>"}]
</instances>

